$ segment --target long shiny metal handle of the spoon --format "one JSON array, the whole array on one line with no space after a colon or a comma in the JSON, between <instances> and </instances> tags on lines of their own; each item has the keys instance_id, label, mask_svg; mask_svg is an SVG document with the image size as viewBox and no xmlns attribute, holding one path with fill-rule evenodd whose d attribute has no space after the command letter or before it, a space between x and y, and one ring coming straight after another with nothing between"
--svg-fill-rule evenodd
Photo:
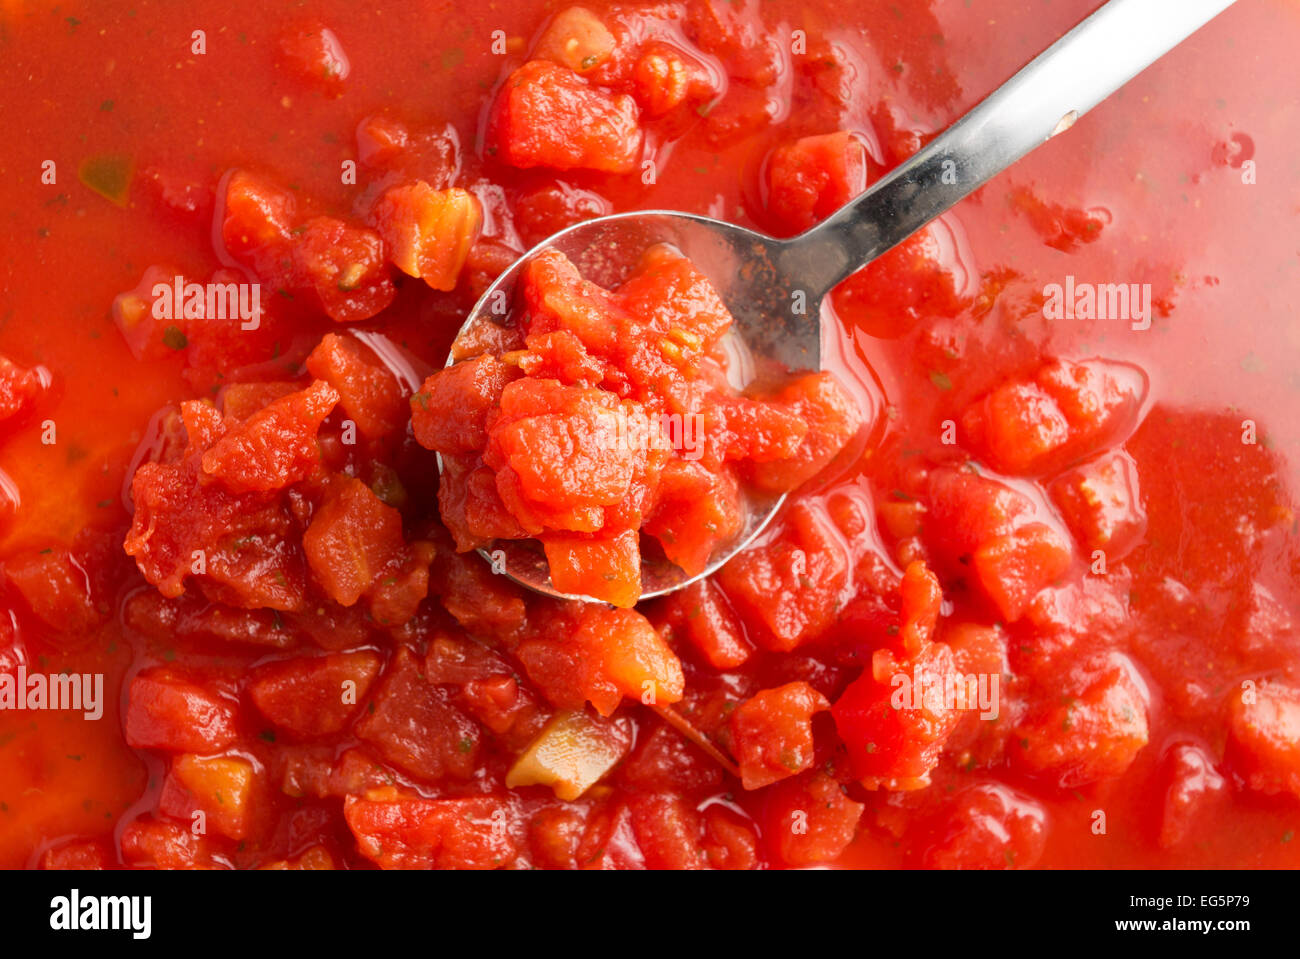
<instances>
[{"instance_id":1,"label":"long shiny metal handle of the spoon","mask_svg":"<svg viewBox=\"0 0 1300 959\"><path fill-rule=\"evenodd\" d=\"M924 149L784 244L810 300L1069 130L1235 0L1110 0Z\"/></svg>"}]
</instances>

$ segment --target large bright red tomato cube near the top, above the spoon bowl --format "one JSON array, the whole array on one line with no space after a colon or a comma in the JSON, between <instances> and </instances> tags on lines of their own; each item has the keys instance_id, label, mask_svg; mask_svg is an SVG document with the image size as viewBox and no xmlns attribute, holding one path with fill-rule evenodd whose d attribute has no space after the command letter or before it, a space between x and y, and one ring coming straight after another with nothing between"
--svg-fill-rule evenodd
<instances>
[{"instance_id":1,"label":"large bright red tomato cube near the top, above the spoon bowl","mask_svg":"<svg viewBox=\"0 0 1300 959\"><path fill-rule=\"evenodd\" d=\"M573 70L530 60L497 94L489 142L511 166L630 173L641 127L630 96L611 96Z\"/></svg>"}]
</instances>

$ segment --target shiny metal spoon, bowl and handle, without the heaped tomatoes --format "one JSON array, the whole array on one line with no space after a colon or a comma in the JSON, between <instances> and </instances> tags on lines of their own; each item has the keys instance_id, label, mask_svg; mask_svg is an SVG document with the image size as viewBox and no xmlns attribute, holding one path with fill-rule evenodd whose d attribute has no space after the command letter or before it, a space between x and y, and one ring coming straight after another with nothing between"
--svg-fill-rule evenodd
<instances>
[{"instance_id":1,"label":"shiny metal spoon, bowl and handle, without the heaped tomatoes","mask_svg":"<svg viewBox=\"0 0 1300 959\"><path fill-rule=\"evenodd\" d=\"M1232 3L1110 0L924 149L792 239L671 211L616 213L571 226L502 273L474 304L462 333L504 317L520 270L542 249L558 249L584 277L614 287L647 247L670 243L718 288L736 318L733 329L753 355L771 357L790 370L820 369L822 299L840 281L1035 147L1069 130ZM753 542L784 499L751 511L745 530L698 576L688 577L667 561L644 560L641 598L671 593L716 572ZM532 590L590 599L551 586L536 541L498 541L480 554L498 572Z\"/></svg>"}]
</instances>

